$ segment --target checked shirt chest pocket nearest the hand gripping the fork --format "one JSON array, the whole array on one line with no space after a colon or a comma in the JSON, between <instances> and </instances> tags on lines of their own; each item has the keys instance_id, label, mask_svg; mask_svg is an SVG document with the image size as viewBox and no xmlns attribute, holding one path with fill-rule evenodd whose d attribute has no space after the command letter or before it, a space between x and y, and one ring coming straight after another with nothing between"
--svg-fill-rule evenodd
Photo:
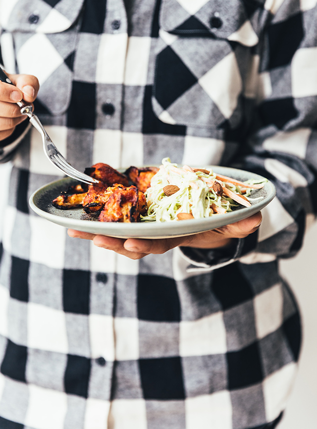
<instances>
[{"instance_id":1,"label":"checked shirt chest pocket nearest the hand gripping the fork","mask_svg":"<svg viewBox=\"0 0 317 429\"><path fill-rule=\"evenodd\" d=\"M73 77L78 23L84 0L1 1L1 49L10 72L39 79L37 111L59 115L67 109ZM13 70L14 67L14 70Z\"/></svg>"}]
</instances>

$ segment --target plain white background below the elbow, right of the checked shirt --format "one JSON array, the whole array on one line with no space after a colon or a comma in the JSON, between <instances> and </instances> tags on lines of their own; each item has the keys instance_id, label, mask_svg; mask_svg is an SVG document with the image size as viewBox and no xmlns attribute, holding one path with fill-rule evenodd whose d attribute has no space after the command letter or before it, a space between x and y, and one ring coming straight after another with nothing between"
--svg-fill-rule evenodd
<instances>
[{"instance_id":1,"label":"plain white background below the elbow, right of the checked shirt","mask_svg":"<svg viewBox=\"0 0 317 429\"><path fill-rule=\"evenodd\" d=\"M278 429L317 428L317 224L306 234L296 258L281 262L302 311L304 339L299 372Z\"/></svg>"}]
</instances>

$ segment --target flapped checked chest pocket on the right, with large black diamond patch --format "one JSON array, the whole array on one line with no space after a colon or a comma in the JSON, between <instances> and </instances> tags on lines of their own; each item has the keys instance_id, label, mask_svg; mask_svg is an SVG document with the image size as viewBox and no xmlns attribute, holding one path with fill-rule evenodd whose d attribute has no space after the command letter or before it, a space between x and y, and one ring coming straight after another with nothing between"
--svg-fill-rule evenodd
<instances>
[{"instance_id":1,"label":"flapped checked chest pocket on the right, with large black diamond patch","mask_svg":"<svg viewBox=\"0 0 317 429\"><path fill-rule=\"evenodd\" d=\"M261 8L249 0L162 0L152 105L163 122L221 128L241 122Z\"/></svg>"}]
</instances>

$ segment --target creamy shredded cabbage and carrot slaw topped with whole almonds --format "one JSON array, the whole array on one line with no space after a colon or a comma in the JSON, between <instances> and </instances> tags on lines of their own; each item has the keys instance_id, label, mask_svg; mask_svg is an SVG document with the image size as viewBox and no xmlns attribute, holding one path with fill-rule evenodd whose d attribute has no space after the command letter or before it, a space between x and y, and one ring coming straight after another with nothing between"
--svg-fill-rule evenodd
<instances>
[{"instance_id":1,"label":"creamy shredded cabbage and carrot slaw topped with whole almonds","mask_svg":"<svg viewBox=\"0 0 317 429\"><path fill-rule=\"evenodd\" d=\"M141 220L199 219L250 207L252 189L263 186L264 182L240 182L206 168L178 167L164 158L145 192L148 211Z\"/></svg>"}]
</instances>

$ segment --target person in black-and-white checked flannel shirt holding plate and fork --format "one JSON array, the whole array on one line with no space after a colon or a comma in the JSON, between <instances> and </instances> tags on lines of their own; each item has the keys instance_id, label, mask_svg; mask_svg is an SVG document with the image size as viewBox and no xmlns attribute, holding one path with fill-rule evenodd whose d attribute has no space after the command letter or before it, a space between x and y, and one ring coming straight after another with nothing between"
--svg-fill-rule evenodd
<instances>
[{"instance_id":1,"label":"person in black-and-white checked flannel shirt holding plate and fork","mask_svg":"<svg viewBox=\"0 0 317 429\"><path fill-rule=\"evenodd\" d=\"M1 429L278 425L301 343L278 261L300 249L317 207L316 11L310 0L0 1L15 85L0 84L12 163ZM193 236L67 234L28 206L62 173L22 99L81 171L227 165L270 179L276 198Z\"/></svg>"}]
</instances>

